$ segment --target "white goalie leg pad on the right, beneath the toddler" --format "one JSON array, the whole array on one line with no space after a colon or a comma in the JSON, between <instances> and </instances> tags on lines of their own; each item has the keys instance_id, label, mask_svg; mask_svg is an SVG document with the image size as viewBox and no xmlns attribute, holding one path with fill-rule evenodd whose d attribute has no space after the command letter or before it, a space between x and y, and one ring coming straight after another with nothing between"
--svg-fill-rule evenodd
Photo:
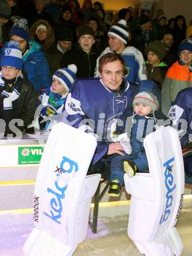
<instances>
[{"instance_id":1,"label":"white goalie leg pad on the right, beneath the toddler","mask_svg":"<svg viewBox=\"0 0 192 256\"><path fill-rule=\"evenodd\" d=\"M127 233L135 244L140 244L138 249L143 253L148 253L149 246L161 251L160 244L172 253L174 245L163 242L162 236L176 224L184 196L180 141L174 129L162 127L144 139L144 147L150 174L139 173L131 179L124 176L125 188L131 194ZM181 242L179 236L174 237Z\"/></svg>"}]
</instances>

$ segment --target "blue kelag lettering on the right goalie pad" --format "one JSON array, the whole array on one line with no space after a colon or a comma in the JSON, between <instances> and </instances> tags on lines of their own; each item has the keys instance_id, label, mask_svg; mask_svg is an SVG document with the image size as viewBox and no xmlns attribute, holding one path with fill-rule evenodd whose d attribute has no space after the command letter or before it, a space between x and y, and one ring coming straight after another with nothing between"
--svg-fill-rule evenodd
<instances>
[{"instance_id":1,"label":"blue kelag lettering on the right goalie pad","mask_svg":"<svg viewBox=\"0 0 192 256\"><path fill-rule=\"evenodd\" d=\"M172 166L171 163L174 161L174 158L171 158L167 162L163 163L163 167L165 167L165 187L167 188L166 193L166 205L164 214L161 216L160 223L162 224L164 221L167 221L168 216L170 215L171 205L173 200L172 192L176 188L176 184L174 183L174 176L172 175Z\"/></svg>"}]
</instances>

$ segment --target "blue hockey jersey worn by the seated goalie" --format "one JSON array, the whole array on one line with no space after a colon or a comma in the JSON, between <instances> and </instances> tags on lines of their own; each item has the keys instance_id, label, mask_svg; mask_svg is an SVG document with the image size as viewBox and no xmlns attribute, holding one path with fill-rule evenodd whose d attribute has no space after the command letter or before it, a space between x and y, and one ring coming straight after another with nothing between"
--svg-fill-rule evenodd
<instances>
[{"instance_id":1,"label":"blue hockey jersey worn by the seated goalie","mask_svg":"<svg viewBox=\"0 0 192 256\"><path fill-rule=\"evenodd\" d=\"M97 136L93 164L103 158L108 144L114 142L116 125L122 125L120 118L130 107L133 89L135 86L125 81L123 90L110 91L99 78L78 79L73 84L62 121Z\"/></svg>"}]
</instances>

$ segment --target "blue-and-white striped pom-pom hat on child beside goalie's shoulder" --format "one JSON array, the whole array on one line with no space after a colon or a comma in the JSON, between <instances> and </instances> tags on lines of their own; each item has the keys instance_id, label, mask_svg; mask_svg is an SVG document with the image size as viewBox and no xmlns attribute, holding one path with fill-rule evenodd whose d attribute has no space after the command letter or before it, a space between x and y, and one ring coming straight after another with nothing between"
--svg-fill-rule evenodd
<instances>
[{"instance_id":1,"label":"blue-and-white striped pom-pom hat on child beside goalie's shoulder","mask_svg":"<svg viewBox=\"0 0 192 256\"><path fill-rule=\"evenodd\" d=\"M53 78L58 79L68 93L71 89L74 79L76 79L76 72L76 65L71 64L67 68L60 68L59 70L57 70L54 73Z\"/></svg>"}]
</instances>

